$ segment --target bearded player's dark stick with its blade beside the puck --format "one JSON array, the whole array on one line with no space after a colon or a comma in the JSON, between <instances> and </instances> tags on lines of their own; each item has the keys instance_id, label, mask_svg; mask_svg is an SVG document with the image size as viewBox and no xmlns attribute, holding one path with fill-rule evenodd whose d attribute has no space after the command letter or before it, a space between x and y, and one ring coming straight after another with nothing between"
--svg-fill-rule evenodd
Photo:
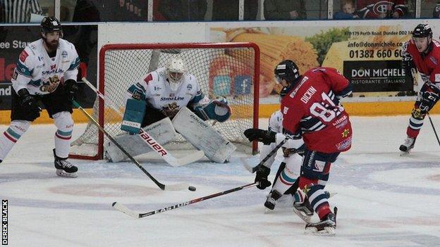
<instances>
[{"instance_id":1,"label":"bearded player's dark stick with its blade beside the puck","mask_svg":"<svg viewBox=\"0 0 440 247\"><path fill-rule=\"evenodd\" d=\"M165 185L165 184L161 184L159 181L157 181L152 175L149 174L149 172L147 172L147 170L144 169L144 167L142 167L142 165L140 165L140 163L138 162L138 160L135 160L135 158L133 158L133 156L130 156L130 153L127 153L127 151L118 144L117 141L115 141L115 139L113 137L111 137L111 135L105 131L105 129L103 127L101 127L99 125L99 123L97 122L97 120L94 120L94 118L87 113L87 111L85 111L84 108L82 108L82 106L80 106L80 104L78 104L78 102L76 101L72 101L73 106L77 107L78 109L80 109L82 111L82 113L84 113L87 118L89 118L90 121L92 121L94 123L94 125L96 125L98 127L98 129L100 131L102 131L106 137L109 137L110 141L112 141L119 149L121 149L121 151L128 156L128 158L130 158L131 161L133 161L133 163L135 163L135 165L137 165L140 170L142 170L142 172L144 172L150 179L153 180L154 184L157 184L157 186L159 186L159 188L161 190L166 190L166 191L180 191L183 189L188 188L188 184L171 184L171 185Z\"/></svg>"}]
</instances>

